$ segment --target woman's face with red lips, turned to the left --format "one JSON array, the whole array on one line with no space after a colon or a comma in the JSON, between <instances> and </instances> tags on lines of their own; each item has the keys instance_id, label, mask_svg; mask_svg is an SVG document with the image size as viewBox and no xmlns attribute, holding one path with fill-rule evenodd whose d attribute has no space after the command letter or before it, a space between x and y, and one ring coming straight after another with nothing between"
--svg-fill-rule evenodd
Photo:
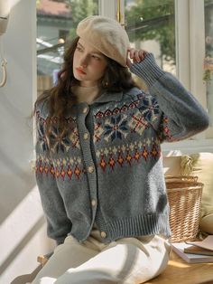
<instances>
[{"instance_id":1,"label":"woman's face with red lips, turned to the left","mask_svg":"<svg viewBox=\"0 0 213 284\"><path fill-rule=\"evenodd\" d=\"M80 86L97 85L106 71L106 57L96 48L79 38L73 57L73 74Z\"/></svg>"}]
</instances>

